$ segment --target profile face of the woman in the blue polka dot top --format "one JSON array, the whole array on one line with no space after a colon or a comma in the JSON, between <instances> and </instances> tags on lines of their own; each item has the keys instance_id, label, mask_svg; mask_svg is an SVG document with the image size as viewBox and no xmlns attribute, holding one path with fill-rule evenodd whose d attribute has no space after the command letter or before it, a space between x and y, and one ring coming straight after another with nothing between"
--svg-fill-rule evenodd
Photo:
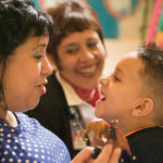
<instances>
[{"instance_id":1,"label":"profile face of the woman in the blue polka dot top","mask_svg":"<svg viewBox=\"0 0 163 163\"><path fill-rule=\"evenodd\" d=\"M51 65L46 57L48 37L29 36L7 60L3 76L4 98L9 110L34 109L46 93Z\"/></svg>"}]
</instances>

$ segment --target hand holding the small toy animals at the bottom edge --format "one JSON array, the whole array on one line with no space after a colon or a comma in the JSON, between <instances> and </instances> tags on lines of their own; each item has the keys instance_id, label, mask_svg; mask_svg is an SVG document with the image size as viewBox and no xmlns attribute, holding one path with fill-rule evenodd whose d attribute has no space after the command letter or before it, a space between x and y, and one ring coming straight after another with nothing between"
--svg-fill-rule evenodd
<instances>
[{"instance_id":1,"label":"hand holding the small toy animals at the bottom edge","mask_svg":"<svg viewBox=\"0 0 163 163\"><path fill-rule=\"evenodd\" d=\"M71 163L118 163L118 158L121 156L121 149L116 148L113 150L112 143L106 143L101 153L96 160L91 158L91 152L93 148L87 147L82 150Z\"/></svg>"}]
</instances>

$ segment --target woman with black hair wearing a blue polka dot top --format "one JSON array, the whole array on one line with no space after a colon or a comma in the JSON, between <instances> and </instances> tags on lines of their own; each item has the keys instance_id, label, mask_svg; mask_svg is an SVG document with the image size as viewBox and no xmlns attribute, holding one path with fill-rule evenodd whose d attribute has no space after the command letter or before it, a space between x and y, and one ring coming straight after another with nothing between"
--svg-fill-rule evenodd
<instances>
[{"instance_id":1,"label":"woman with black hair wearing a blue polka dot top","mask_svg":"<svg viewBox=\"0 0 163 163\"><path fill-rule=\"evenodd\" d=\"M70 163L64 143L21 113L46 93L50 17L30 0L0 1L0 162Z\"/></svg>"}]
</instances>

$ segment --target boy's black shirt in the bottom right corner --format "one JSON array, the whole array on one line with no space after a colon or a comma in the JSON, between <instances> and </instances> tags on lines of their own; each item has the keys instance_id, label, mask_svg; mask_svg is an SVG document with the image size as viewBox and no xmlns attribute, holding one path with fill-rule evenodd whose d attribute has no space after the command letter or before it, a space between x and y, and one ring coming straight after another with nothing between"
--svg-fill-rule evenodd
<instances>
[{"instance_id":1,"label":"boy's black shirt in the bottom right corner","mask_svg":"<svg viewBox=\"0 0 163 163\"><path fill-rule=\"evenodd\" d=\"M120 163L163 163L163 127L148 127L126 136L131 159L122 153Z\"/></svg>"}]
</instances>

